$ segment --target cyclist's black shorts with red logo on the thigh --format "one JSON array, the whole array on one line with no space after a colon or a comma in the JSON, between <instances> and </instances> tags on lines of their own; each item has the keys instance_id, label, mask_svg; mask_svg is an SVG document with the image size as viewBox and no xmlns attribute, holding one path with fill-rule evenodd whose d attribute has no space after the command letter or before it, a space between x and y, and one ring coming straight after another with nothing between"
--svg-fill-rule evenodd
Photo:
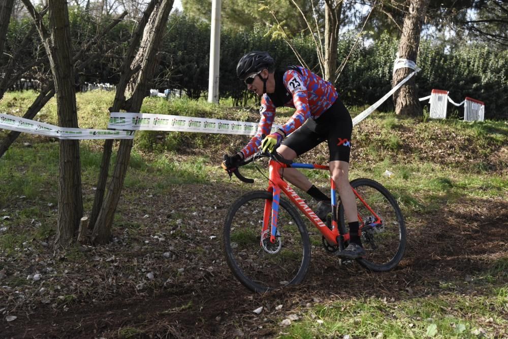
<instances>
[{"instance_id":1,"label":"cyclist's black shorts with red logo on the thigh","mask_svg":"<svg viewBox=\"0 0 508 339\"><path fill-rule=\"evenodd\" d=\"M342 101L337 98L319 118L307 119L300 128L282 142L282 145L291 148L297 155L302 155L322 142L328 141L330 161L349 162L352 131L351 115Z\"/></svg>"}]
</instances>

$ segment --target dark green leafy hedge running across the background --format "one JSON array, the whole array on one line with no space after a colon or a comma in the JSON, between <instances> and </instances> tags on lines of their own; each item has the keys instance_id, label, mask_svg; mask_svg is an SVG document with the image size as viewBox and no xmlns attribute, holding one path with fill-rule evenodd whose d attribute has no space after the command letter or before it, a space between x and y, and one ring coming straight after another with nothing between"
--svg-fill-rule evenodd
<instances>
[{"instance_id":1,"label":"dark green leafy hedge running across the background","mask_svg":"<svg viewBox=\"0 0 508 339\"><path fill-rule=\"evenodd\" d=\"M75 46L80 46L99 30L99 25L86 15L71 11L71 27ZM111 18L105 19L106 23ZM12 52L28 29L27 22L11 21L6 52ZM132 23L123 22L108 34L108 41L130 35ZM40 54L36 41L26 51L26 60ZM338 60L350 53L355 34L343 35L339 40ZM320 73L313 41L308 36L292 37L291 42L307 65ZM104 42L106 44L107 42ZM398 40L388 34L371 44L360 43L349 56L336 86L346 105L373 104L391 89L391 78ZM121 56L126 44L115 54ZM152 88L180 89L190 98L206 96L208 90L208 58L210 50L209 24L184 15L170 15L168 33L160 53L161 63ZM254 99L245 85L236 77L238 59L250 50L267 50L277 60L278 66L298 64L293 51L280 38L273 38L266 26L249 30L222 30L219 74L219 96L231 98L234 106L246 105ZM5 60L5 58L4 58ZM76 83L108 82L118 80L117 57L99 58L76 72ZM433 88L450 91L450 97L460 102L465 96L485 101L486 118L508 119L508 51L496 52L485 44L464 44L455 50L447 50L431 41L422 41L417 60L422 71L416 77L418 96L430 94ZM380 110L393 110L392 100L387 100ZM453 110L451 110L453 112ZM459 112L463 112L460 108ZM459 114L460 115L460 114Z\"/></svg>"}]
</instances>

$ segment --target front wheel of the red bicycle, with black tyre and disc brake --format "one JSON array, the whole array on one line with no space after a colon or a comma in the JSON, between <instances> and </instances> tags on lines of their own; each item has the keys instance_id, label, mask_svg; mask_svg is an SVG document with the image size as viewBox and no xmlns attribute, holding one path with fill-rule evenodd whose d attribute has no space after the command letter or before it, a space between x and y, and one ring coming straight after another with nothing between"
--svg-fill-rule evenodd
<instances>
[{"instance_id":1,"label":"front wheel of the red bicycle, with black tyre and disc brake","mask_svg":"<svg viewBox=\"0 0 508 339\"><path fill-rule=\"evenodd\" d=\"M288 201L280 199L275 244L270 243L270 227L263 232L265 206L271 210L272 199L266 191L247 193L233 204L224 223L226 261L234 276L255 292L300 283L310 261L309 235Z\"/></svg>"}]
</instances>

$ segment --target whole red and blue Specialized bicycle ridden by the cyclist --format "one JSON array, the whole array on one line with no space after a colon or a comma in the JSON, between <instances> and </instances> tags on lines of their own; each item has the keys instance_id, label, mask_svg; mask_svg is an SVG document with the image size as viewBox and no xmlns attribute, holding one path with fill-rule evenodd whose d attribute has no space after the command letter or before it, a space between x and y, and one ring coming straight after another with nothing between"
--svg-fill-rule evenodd
<instances>
[{"instance_id":1,"label":"whole red and blue Specialized bicycle ridden by the cyclist","mask_svg":"<svg viewBox=\"0 0 508 339\"><path fill-rule=\"evenodd\" d=\"M226 261L233 275L255 292L298 284L305 277L310 262L310 240L294 206L322 233L326 251L342 250L349 241L344 209L336 197L331 178L332 213L326 224L282 179L284 168L328 170L328 166L292 162L276 153L260 151L238 167L262 157L270 158L267 190L252 191L236 200L226 216L223 232ZM227 169L224 164L223 167ZM253 182L243 177L238 168L228 173L230 177L235 174L243 182ZM356 195L360 234L366 252L365 257L357 261L374 272L390 270L402 259L406 245L404 218L397 201L383 185L371 179L355 179L351 186ZM281 198L281 192L293 205Z\"/></svg>"}]
</instances>

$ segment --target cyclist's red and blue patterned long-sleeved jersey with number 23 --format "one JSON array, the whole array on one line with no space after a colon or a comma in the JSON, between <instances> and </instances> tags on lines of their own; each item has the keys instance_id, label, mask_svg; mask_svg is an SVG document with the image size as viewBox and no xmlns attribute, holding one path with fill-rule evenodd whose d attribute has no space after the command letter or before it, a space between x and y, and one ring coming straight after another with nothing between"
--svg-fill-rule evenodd
<instances>
[{"instance_id":1,"label":"cyclist's red and blue patterned long-sleeved jersey with number 23","mask_svg":"<svg viewBox=\"0 0 508 339\"><path fill-rule=\"evenodd\" d=\"M290 66L284 72L275 72L274 78L275 92L265 93L261 98L258 132L241 151L245 158L256 153L262 134L270 134L276 107L296 108L293 116L280 128L288 136L309 117L319 118L338 96L331 83L301 66Z\"/></svg>"}]
</instances>

